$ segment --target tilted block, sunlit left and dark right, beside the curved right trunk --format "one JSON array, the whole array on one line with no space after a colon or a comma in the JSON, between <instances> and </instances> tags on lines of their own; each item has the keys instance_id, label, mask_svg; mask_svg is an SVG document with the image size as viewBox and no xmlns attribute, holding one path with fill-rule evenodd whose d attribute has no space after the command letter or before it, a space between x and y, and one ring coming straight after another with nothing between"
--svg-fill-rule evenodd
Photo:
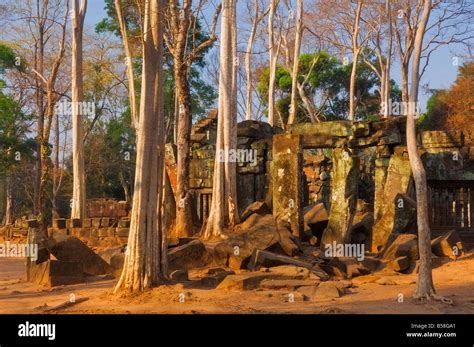
<instances>
[{"instance_id":1,"label":"tilted block, sunlit left and dark right, beside the curved right trunk","mask_svg":"<svg viewBox=\"0 0 474 347\"><path fill-rule=\"evenodd\" d=\"M416 201L408 195L398 194L392 206L386 204L385 207L385 213L372 229L373 252L382 250L391 234L404 233L415 222Z\"/></svg>"}]
</instances>

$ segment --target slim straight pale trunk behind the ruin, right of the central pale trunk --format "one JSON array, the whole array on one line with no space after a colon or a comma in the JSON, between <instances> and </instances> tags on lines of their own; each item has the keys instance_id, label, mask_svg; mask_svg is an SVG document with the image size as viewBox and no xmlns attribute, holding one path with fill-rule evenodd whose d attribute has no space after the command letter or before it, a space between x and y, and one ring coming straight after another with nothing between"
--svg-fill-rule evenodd
<instances>
[{"instance_id":1,"label":"slim straight pale trunk behind the ruin, right of the central pale trunk","mask_svg":"<svg viewBox=\"0 0 474 347\"><path fill-rule=\"evenodd\" d=\"M268 14L268 51L270 53L270 77L268 82L268 123L275 123L275 79L278 53L275 43L275 12L279 0L270 0L270 13Z\"/></svg>"}]
</instances>

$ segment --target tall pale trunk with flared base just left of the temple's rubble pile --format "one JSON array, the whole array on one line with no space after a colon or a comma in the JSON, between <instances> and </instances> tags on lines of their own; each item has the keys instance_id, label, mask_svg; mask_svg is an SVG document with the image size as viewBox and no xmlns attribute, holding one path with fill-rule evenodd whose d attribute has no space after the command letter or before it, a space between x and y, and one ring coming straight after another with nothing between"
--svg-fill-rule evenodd
<instances>
[{"instance_id":1,"label":"tall pale trunk with flared base just left of the temple's rubble pile","mask_svg":"<svg viewBox=\"0 0 474 347\"><path fill-rule=\"evenodd\" d=\"M230 162L229 153L237 143L236 114L232 112L235 103L234 67L235 49L235 0L224 0L221 20L219 113L217 120L216 159L209 218L203 237L222 237L226 224L238 223L236 165Z\"/></svg>"}]
</instances>

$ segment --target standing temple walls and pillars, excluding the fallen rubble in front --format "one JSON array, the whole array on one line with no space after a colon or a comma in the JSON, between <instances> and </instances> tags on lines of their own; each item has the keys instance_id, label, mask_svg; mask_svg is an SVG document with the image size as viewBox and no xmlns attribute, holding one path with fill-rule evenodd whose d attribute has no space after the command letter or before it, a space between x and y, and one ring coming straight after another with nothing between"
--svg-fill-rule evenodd
<instances>
[{"instance_id":1,"label":"standing temple walls and pillars, excluding the fallen rubble in front","mask_svg":"<svg viewBox=\"0 0 474 347\"><path fill-rule=\"evenodd\" d=\"M416 233L405 124L405 117L354 125L301 123L283 132L263 122L239 123L239 150L253 150L256 155L253 162L238 163L240 212L264 201L303 240L315 236L324 243L363 242L374 253L382 251L393 235ZM215 112L193 127L190 186L196 223L209 212L215 131ZM433 236L456 230L465 242L474 240L473 139L462 131L420 135ZM169 148L173 153L172 145ZM326 210L327 225L312 230L304 216L318 203Z\"/></svg>"}]
</instances>

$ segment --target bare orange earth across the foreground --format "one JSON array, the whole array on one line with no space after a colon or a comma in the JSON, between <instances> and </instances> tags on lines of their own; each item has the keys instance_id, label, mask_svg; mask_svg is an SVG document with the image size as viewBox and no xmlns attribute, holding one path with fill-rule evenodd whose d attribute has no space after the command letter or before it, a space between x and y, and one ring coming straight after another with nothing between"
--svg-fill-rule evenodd
<instances>
[{"instance_id":1,"label":"bare orange earth across the foreground","mask_svg":"<svg viewBox=\"0 0 474 347\"><path fill-rule=\"evenodd\" d=\"M192 275L192 273L191 273ZM378 273L390 284L354 284L338 299L304 302L288 291L187 289L182 284L162 286L139 296L113 295L113 280L42 288L25 281L25 261L0 258L0 313L469 313L474 314L474 255L433 270L438 294L453 300L419 303L412 299L416 275ZM403 294L403 302L398 302ZM88 298L76 305L51 310L74 297ZM184 298L184 302L183 299ZM180 300L181 299L181 300Z\"/></svg>"}]
</instances>

